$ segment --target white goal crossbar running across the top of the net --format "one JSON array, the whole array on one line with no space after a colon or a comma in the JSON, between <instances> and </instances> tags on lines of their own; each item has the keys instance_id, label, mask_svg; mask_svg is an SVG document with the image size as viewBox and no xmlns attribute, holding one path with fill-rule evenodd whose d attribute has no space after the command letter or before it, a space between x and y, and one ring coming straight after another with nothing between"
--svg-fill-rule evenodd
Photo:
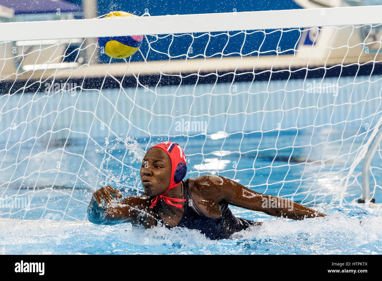
<instances>
[{"instance_id":1,"label":"white goal crossbar running across the top of the net","mask_svg":"<svg viewBox=\"0 0 382 281\"><path fill-rule=\"evenodd\" d=\"M382 23L382 5L0 23L0 41Z\"/></svg>"}]
</instances>

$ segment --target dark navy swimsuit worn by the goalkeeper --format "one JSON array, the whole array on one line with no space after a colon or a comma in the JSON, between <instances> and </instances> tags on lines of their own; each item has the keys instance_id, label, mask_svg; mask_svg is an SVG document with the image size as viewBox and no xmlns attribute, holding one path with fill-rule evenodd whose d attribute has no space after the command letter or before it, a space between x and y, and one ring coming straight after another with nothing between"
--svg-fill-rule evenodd
<instances>
[{"instance_id":1,"label":"dark navy swimsuit worn by the goalkeeper","mask_svg":"<svg viewBox=\"0 0 382 281\"><path fill-rule=\"evenodd\" d=\"M249 226L259 225L254 221L248 221L242 218L236 218L227 203L222 205L222 216L220 218L209 218L203 214L194 204L191 194L189 193L188 183L186 180L182 180L183 193L185 196L185 210L180 222L176 225L179 227L186 227L188 229L200 230L202 234L206 234L206 237L210 239L228 239L231 234L248 228ZM155 217L162 221L158 213L158 205L154 206ZM168 226L172 228L175 226Z\"/></svg>"}]
</instances>

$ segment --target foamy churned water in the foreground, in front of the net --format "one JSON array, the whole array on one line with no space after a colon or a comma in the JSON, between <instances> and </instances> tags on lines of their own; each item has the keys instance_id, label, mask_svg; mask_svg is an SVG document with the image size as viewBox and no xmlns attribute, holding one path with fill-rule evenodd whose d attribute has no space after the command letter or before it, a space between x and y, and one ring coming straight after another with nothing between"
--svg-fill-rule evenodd
<instances>
[{"instance_id":1,"label":"foamy churned water in the foreground, in front of the net","mask_svg":"<svg viewBox=\"0 0 382 281\"><path fill-rule=\"evenodd\" d=\"M233 207L235 215L264 224L223 240L209 240L196 230L184 228L145 230L131 224L2 220L0 250L6 254L382 253L380 212L361 205L323 207L330 216L304 221L271 218ZM361 226L359 219L363 221Z\"/></svg>"}]
</instances>

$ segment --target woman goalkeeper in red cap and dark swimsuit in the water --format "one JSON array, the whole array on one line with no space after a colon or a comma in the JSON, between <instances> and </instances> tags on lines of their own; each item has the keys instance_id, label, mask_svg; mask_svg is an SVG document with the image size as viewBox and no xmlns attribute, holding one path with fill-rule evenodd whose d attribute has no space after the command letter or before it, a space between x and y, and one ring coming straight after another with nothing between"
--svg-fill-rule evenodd
<instances>
[{"instance_id":1,"label":"woman goalkeeper in red cap and dark swimsuit in the water","mask_svg":"<svg viewBox=\"0 0 382 281\"><path fill-rule=\"evenodd\" d=\"M231 234L261 223L236 218L228 204L290 219L322 217L301 204L254 192L218 175L183 180L186 156L176 143L165 141L150 148L143 158L141 196L122 198L121 192L105 186L94 192L87 209L95 224L132 223L150 228L197 229L210 239L227 239ZM112 204L115 200L118 204Z\"/></svg>"}]
</instances>

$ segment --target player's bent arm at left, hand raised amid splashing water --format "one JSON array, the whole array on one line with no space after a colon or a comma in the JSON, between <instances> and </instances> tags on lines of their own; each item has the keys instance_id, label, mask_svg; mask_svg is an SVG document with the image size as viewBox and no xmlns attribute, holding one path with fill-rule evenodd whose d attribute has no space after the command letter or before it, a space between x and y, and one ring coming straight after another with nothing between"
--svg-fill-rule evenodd
<instances>
[{"instance_id":1,"label":"player's bent arm at left, hand raised amid splashing water","mask_svg":"<svg viewBox=\"0 0 382 281\"><path fill-rule=\"evenodd\" d=\"M132 223L146 228L156 226L157 220L149 208L149 199L146 197L129 196L122 198L122 193L110 185L93 193L87 208L87 217L94 224Z\"/></svg>"}]
</instances>

